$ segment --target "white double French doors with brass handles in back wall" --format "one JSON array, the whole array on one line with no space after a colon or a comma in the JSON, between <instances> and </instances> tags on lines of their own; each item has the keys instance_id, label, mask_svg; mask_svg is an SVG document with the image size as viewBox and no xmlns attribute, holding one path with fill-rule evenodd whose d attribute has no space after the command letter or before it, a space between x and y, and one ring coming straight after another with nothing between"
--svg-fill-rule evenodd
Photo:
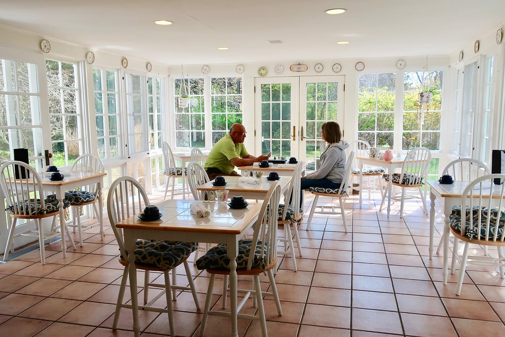
<instances>
[{"instance_id":1,"label":"white double French doors with brass handles in back wall","mask_svg":"<svg viewBox=\"0 0 505 337\"><path fill-rule=\"evenodd\" d=\"M317 162L321 125L343 125L344 76L255 79L256 152ZM260 150L261 149L261 150Z\"/></svg>"}]
</instances>

